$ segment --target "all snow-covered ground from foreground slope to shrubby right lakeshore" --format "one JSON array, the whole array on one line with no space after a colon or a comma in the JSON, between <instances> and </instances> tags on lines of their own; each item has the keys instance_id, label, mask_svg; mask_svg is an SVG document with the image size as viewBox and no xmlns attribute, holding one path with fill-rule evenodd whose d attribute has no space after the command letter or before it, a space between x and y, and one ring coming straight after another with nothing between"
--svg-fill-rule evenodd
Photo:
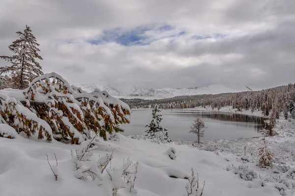
<instances>
[{"instance_id":1,"label":"all snow-covered ground from foreground slope to shrubby right lakeshore","mask_svg":"<svg viewBox=\"0 0 295 196\"><path fill-rule=\"evenodd\" d=\"M295 193L294 123L294 120L279 120L278 135L266 138L275 154L271 169L256 166L257 149L263 138L218 140L198 146L183 145L185 142L156 144L119 135L116 141L100 139L96 143L98 149L92 151L92 159L96 161L114 150L112 168L121 167L127 158L139 162L134 187L137 194L129 193L127 187L119 189L117 196L182 196L186 194L188 181L184 178L189 177L191 168L198 173L201 187L206 181L203 196L292 196ZM29 140L5 126L1 124L0 133L11 133L15 139L0 137L0 196L112 195L108 186L97 186L74 176L70 150L76 145ZM170 147L176 149L176 160L165 153ZM57 181L46 157L55 165L54 154L59 168Z\"/></svg>"}]
</instances>

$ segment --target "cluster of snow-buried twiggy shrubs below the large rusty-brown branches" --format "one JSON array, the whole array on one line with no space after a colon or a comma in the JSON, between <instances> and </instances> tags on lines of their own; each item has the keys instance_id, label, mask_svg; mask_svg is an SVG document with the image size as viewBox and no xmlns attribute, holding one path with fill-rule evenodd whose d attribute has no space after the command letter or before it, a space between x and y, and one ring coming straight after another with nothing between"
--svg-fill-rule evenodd
<instances>
[{"instance_id":1,"label":"cluster of snow-buried twiggy shrubs below the large rusty-brown branches","mask_svg":"<svg viewBox=\"0 0 295 196\"><path fill-rule=\"evenodd\" d=\"M92 160L92 152L97 149L94 139L95 137L84 141L75 150L71 150L75 177L92 181L98 186L104 185L110 190L110 196L117 196L121 188L128 188L130 193L136 193L134 185L139 163L136 162L132 169L132 161L127 159L122 167L111 168L109 163L113 159L113 153L99 157L97 161Z\"/></svg>"}]
</instances>

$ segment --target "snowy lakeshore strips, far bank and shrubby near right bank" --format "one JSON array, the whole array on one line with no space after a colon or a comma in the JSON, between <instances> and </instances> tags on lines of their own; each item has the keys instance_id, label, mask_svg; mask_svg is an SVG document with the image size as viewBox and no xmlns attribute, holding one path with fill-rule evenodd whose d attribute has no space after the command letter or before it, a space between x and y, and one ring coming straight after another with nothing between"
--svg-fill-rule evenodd
<instances>
[{"instance_id":1,"label":"snowy lakeshore strips, far bank and shrubby near right bank","mask_svg":"<svg viewBox=\"0 0 295 196\"><path fill-rule=\"evenodd\" d=\"M136 109L140 110L140 109ZM148 109L141 109L141 110L150 110ZM204 112L221 112L221 113L230 113L230 114L241 114L241 115L248 115L248 116L255 116L261 117L265 120L268 119L261 114L261 111L243 111L243 112L235 112L232 107L223 107L220 108L219 111L209 109L204 110L202 107L197 108L186 108L186 109L168 109L168 110L190 110L190 111L204 111ZM274 127L273 131L276 133L272 136L267 136L266 141L274 151L275 157L277 161L279 160L287 165L295 166L295 120L291 119L285 120L283 117L280 117L276 121L276 126ZM169 131L169 130L168 130ZM132 137L132 136L127 136ZM141 136L133 136L135 138L141 138ZM144 139L144 138L143 138ZM240 138L240 139L216 139L216 140L203 140L200 144L196 143L195 140L193 141L173 141L176 145L186 145L193 148L197 148L200 150L206 151L220 151L228 154L233 154L236 156L242 156L244 154L244 147L247 147L247 150L251 152L251 155L248 154L252 159L256 159L257 157L257 150L261 147L264 143L264 136L261 137L251 137L251 138ZM278 163L277 162L277 163Z\"/></svg>"}]
</instances>

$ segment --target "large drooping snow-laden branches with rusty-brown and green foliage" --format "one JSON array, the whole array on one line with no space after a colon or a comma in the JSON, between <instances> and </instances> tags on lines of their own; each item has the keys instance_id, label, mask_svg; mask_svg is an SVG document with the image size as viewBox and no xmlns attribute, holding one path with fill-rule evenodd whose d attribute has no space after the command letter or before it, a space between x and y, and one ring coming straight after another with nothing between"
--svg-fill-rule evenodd
<instances>
[{"instance_id":1,"label":"large drooping snow-laden branches with rusty-brown and green foliage","mask_svg":"<svg viewBox=\"0 0 295 196\"><path fill-rule=\"evenodd\" d=\"M87 93L57 73L37 77L25 90L0 90L0 122L47 141L79 144L93 133L106 140L107 132L123 131L118 125L129 123L129 114L129 106L106 91Z\"/></svg>"}]
</instances>

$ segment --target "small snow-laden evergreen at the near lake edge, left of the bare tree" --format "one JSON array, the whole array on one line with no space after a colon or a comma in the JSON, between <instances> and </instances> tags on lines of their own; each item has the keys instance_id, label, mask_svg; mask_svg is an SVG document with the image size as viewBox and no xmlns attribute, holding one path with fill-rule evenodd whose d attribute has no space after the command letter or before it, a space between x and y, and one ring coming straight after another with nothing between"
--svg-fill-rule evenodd
<instances>
[{"instance_id":1,"label":"small snow-laden evergreen at the near lake edge, left of the bare tree","mask_svg":"<svg viewBox=\"0 0 295 196\"><path fill-rule=\"evenodd\" d=\"M146 125L148 130L145 131L144 136L150 139L151 142L170 143L172 140L168 135L168 130L160 124L162 121L162 115L157 114L159 112L161 112L161 110L159 110L158 106L155 105L155 108L152 110L152 120Z\"/></svg>"}]
</instances>

